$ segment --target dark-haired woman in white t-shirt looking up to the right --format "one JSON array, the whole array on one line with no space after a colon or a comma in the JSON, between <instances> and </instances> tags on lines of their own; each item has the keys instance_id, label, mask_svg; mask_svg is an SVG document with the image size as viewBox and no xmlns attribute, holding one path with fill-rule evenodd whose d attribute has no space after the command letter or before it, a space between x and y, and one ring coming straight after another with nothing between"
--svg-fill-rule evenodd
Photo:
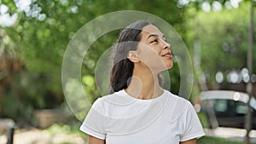
<instances>
[{"instance_id":1,"label":"dark-haired woman in white t-shirt looking up to the right","mask_svg":"<svg viewBox=\"0 0 256 144\"><path fill-rule=\"evenodd\" d=\"M170 43L138 21L119 34L113 49L110 95L97 99L80 130L89 144L195 144L204 134L189 101L160 87L172 68Z\"/></svg>"}]
</instances>

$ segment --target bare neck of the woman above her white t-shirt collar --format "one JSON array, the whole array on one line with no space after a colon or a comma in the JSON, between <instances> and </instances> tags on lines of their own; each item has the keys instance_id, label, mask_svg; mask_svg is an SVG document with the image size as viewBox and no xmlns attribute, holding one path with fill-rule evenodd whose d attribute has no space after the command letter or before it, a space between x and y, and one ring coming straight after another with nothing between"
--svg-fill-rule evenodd
<instances>
[{"instance_id":1,"label":"bare neck of the woman above her white t-shirt collar","mask_svg":"<svg viewBox=\"0 0 256 144\"><path fill-rule=\"evenodd\" d=\"M163 93L158 74L142 69L133 71L131 83L125 91L138 99L152 99Z\"/></svg>"}]
</instances>

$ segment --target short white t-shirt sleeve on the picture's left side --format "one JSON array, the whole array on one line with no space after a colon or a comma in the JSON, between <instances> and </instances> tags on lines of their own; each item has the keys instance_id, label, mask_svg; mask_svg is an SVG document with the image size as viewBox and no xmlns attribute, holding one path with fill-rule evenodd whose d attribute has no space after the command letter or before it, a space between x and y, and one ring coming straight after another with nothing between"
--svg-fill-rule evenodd
<instances>
[{"instance_id":1,"label":"short white t-shirt sleeve on the picture's left side","mask_svg":"<svg viewBox=\"0 0 256 144\"><path fill-rule=\"evenodd\" d=\"M105 116L103 114L103 107L101 99L97 99L90 111L88 112L83 124L80 126L80 130L88 135L95 136L96 138L105 140L106 132L104 128Z\"/></svg>"}]
</instances>

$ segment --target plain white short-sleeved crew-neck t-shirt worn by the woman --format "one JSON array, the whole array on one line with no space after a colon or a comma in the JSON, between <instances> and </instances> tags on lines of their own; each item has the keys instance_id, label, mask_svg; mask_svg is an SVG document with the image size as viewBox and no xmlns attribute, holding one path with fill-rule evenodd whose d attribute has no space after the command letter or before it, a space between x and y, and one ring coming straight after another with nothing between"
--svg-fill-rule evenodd
<instances>
[{"instance_id":1,"label":"plain white short-sleeved crew-neck t-shirt worn by the woman","mask_svg":"<svg viewBox=\"0 0 256 144\"><path fill-rule=\"evenodd\" d=\"M97 99L80 130L106 144L178 144L205 135L191 103L167 90L141 100L120 90Z\"/></svg>"}]
</instances>

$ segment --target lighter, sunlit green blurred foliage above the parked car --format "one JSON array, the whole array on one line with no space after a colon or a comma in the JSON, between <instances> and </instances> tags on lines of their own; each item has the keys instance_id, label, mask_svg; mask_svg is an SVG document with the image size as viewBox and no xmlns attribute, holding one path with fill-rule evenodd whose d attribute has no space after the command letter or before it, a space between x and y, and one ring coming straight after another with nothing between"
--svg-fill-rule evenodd
<instances>
[{"instance_id":1,"label":"lighter, sunlit green blurred foliage above the parked car","mask_svg":"<svg viewBox=\"0 0 256 144\"><path fill-rule=\"evenodd\" d=\"M250 2L247 1L240 3L239 9L207 13L200 11L193 20L189 20L188 43L191 46L198 43L201 68L206 73L209 84L216 84L217 72L226 75L231 70L241 71L247 67L249 8ZM195 8L189 11L193 13ZM255 12L253 20L256 20ZM255 62L256 53L253 52L253 63ZM255 66L253 72L256 72ZM227 83L226 80L224 79L224 83Z\"/></svg>"}]
</instances>

